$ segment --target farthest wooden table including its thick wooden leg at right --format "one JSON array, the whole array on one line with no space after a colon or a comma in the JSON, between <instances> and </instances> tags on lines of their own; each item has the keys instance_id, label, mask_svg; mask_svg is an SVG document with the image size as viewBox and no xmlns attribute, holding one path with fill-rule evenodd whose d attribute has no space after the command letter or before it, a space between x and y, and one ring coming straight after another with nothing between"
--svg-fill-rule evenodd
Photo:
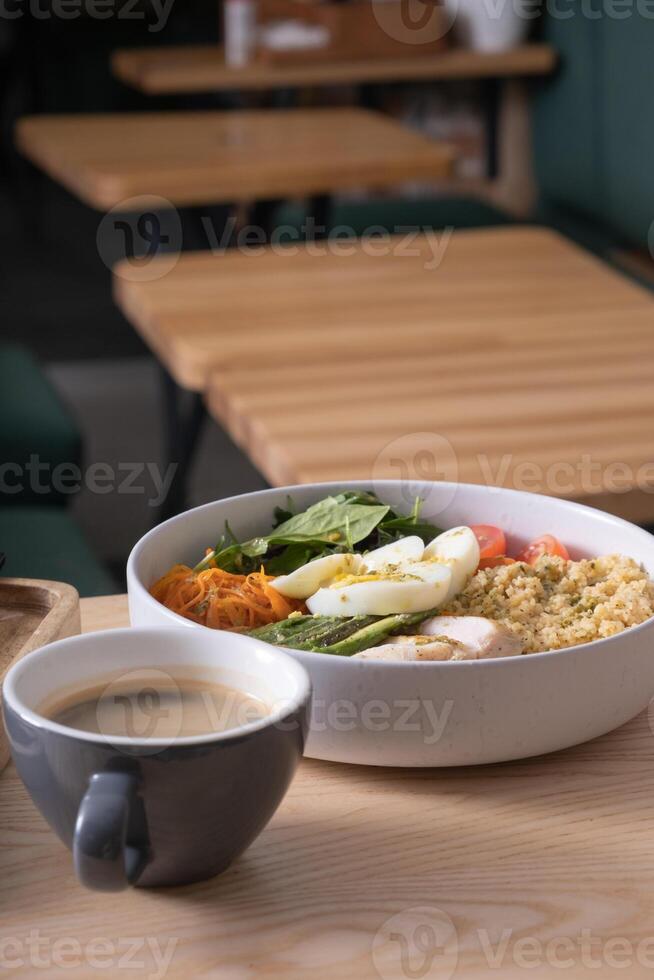
<instances>
[{"instance_id":1,"label":"farthest wooden table including its thick wooden leg at right","mask_svg":"<svg viewBox=\"0 0 654 980\"><path fill-rule=\"evenodd\" d=\"M373 86L384 83L483 79L486 177L492 183L478 190L511 212L527 213L534 181L525 81L550 74L557 60L556 51L547 44L524 44L498 53L452 47L437 55L421 54L420 46L414 45L405 58L230 68L221 47L184 45L121 49L114 52L111 64L121 81L146 95L218 92L238 97L244 92L283 90L288 101L294 98L293 89L360 85L365 87L362 98L368 105L371 100L378 104Z\"/></svg>"}]
</instances>

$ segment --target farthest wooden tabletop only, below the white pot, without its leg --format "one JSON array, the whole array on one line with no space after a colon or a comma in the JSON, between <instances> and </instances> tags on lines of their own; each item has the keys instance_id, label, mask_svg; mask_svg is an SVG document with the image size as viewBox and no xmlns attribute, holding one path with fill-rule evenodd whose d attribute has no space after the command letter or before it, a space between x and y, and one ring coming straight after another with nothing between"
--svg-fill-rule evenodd
<instances>
[{"instance_id":1,"label":"farthest wooden tabletop only, below the white pot, without its leg","mask_svg":"<svg viewBox=\"0 0 654 980\"><path fill-rule=\"evenodd\" d=\"M546 75L556 52L547 44L524 44L511 51L487 53L450 48L434 55L419 51L407 58L339 61L279 66L251 64L230 68L217 45L123 48L111 58L114 74L147 95L181 92L242 91L293 86L452 78L508 78Z\"/></svg>"}]
</instances>

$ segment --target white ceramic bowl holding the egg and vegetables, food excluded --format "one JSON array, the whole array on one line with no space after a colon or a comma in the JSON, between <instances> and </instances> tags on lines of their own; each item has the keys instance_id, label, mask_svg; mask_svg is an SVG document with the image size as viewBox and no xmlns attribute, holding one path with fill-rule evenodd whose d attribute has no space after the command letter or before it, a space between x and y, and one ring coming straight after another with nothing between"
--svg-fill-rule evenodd
<instances>
[{"instance_id":1,"label":"white ceramic bowl holding the egg and vegetables, food excluded","mask_svg":"<svg viewBox=\"0 0 654 980\"><path fill-rule=\"evenodd\" d=\"M266 533L273 508L291 494L305 507L368 483L322 483L218 500L174 517L143 537L127 565L134 626L205 629L156 602L148 587L176 562L190 565L220 537L224 522L243 539ZM407 484L376 481L403 512ZM601 511L514 490L414 484L423 515L440 527L496 524L514 551L552 533L571 556L620 552L654 576L654 537ZM454 663L383 663L288 651L308 670L313 710L306 754L386 766L503 762L552 752L608 732L654 695L654 619L606 640L566 650Z\"/></svg>"}]
</instances>

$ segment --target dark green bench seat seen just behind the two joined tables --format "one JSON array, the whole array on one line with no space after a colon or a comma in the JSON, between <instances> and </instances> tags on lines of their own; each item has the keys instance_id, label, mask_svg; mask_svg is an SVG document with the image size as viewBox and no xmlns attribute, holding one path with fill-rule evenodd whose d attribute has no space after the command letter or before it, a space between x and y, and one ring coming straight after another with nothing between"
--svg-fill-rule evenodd
<instances>
[{"instance_id":1,"label":"dark green bench seat seen just behind the two joined tables","mask_svg":"<svg viewBox=\"0 0 654 980\"><path fill-rule=\"evenodd\" d=\"M300 229L308 210L297 204L280 206L275 214L277 228ZM481 228L504 225L509 215L474 197L379 198L365 201L337 201L328 218L329 228L352 229L363 235L383 228L393 233L403 228Z\"/></svg>"}]
</instances>

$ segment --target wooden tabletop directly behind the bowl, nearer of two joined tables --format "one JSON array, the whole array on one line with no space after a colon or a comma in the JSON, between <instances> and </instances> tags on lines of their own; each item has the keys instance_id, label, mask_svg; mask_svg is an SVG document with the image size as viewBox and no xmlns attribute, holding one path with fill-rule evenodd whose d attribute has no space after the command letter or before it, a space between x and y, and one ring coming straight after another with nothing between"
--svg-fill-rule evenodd
<instances>
[{"instance_id":1,"label":"wooden tabletop directly behind the bowl, nearer of two joined tables","mask_svg":"<svg viewBox=\"0 0 654 980\"><path fill-rule=\"evenodd\" d=\"M454 479L651 522L654 310L634 311L619 339L609 323L579 319L575 336L540 344L507 331L492 349L398 351L366 370L219 370L208 404L275 485Z\"/></svg>"}]
</instances>

